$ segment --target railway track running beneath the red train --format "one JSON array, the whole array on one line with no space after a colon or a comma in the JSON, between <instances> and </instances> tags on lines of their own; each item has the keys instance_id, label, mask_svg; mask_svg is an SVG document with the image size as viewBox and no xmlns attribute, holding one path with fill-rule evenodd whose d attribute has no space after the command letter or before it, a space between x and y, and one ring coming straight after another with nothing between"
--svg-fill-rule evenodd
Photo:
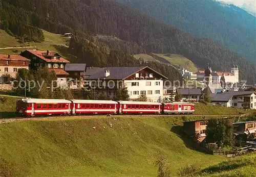
<instances>
[{"instance_id":1,"label":"railway track running beneath the red train","mask_svg":"<svg viewBox=\"0 0 256 177\"><path fill-rule=\"evenodd\" d=\"M188 116L241 116L243 114L190 114ZM12 117L12 118L2 118L0 119L0 124L3 123L9 123L9 122L14 122L14 121L24 121L24 120L44 120L44 119L57 119L57 118L68 118L68 117L95 117L97 115L68 115L68 116L40 116L40 117ZM169 117L174 117L174 116L182 116L182 115L154 115L154 114L143 114L143 115L98 115L98 116L123 116L123 117L131 117L131 116L136 116L136 117L141 117L141 116L169 116ZM186 116L186 115L185 115Z\"/></svg>"}]
</instances>

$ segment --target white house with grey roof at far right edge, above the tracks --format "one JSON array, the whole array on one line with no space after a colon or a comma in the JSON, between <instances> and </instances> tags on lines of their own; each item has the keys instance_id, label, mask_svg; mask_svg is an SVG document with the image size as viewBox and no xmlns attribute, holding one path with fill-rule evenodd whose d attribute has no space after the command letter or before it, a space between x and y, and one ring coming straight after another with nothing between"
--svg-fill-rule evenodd
<instances>
[{"instance_id":1,"label":"white house with grey roof at far right edge, above the tracks","mask_svg":"<svg viewBox=\"0 0 256 177\"><path fill-rule=\"evenodd\" d=\"M256 109L256 93L253 91L228 91L217 93L211 102L225 107Z\"/></svg>"}]
</instances>

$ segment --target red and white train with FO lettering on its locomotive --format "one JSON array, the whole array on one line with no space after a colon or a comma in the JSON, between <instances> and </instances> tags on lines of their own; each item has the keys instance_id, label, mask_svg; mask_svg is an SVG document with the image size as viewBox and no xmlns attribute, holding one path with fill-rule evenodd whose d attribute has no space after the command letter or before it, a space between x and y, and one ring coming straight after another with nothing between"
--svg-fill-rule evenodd
<instances>
[{"instance_id":1,"label":"red and white train with FO lettering on its locomotive","mask_svg":"<svg viewBox=\"0 0 256 177\"><path fill-rule=\"evenodd\" d=\"M76 114L193 114L194 104L82 99L19 99L16 112L23 116Z\"/></svg>"}]
</instances>

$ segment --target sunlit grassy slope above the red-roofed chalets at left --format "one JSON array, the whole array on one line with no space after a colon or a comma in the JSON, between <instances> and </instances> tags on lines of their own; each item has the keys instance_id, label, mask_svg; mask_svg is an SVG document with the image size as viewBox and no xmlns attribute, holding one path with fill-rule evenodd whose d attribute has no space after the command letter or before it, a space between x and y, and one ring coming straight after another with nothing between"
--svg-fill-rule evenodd
<instances>
[{"instance_id":1,"label":"sunlit grassy slope above the red-roofed chalets at left","mask_svg":"<svg viewBox=\"0 0 256 177\"><path fill-rule=\"evenodd\" d=\"M17 40L7 34L5 31L0 30L0 48L4 47L23 47L23 46L35 46L35 48L17 48L17 49L0 49L0 54L20 54L21 51L26 49L39 49L39 50L53 50L58 52L61 56L75 60L74 56L68 54L68 40L69 38L63 37L60 34L54 34L42 30L45 36L44 42L26 42L25 44L18 43Z\"/></svg>"}]
</instances>

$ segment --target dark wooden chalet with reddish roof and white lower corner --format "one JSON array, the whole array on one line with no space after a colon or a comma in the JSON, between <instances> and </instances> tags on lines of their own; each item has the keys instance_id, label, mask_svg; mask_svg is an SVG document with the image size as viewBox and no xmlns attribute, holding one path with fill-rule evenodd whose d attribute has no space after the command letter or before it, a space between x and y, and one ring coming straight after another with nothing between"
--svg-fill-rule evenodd
<instances>
[{"instance_id":1,"label":"dark wooden chalet with reddish roof and white lower corner","mask_svg":"<svg viewBox=\"0 0 256 177\"><path fill-rule=\"evenodd\" d=\"M70 63L56 52L41 50L25 50L21 56L30 59L29 69L36 70L47 66L49 71L55 71L58 85L67 84L68 72L64 70L65 65Z\"/></svg>"}]
</instances>

